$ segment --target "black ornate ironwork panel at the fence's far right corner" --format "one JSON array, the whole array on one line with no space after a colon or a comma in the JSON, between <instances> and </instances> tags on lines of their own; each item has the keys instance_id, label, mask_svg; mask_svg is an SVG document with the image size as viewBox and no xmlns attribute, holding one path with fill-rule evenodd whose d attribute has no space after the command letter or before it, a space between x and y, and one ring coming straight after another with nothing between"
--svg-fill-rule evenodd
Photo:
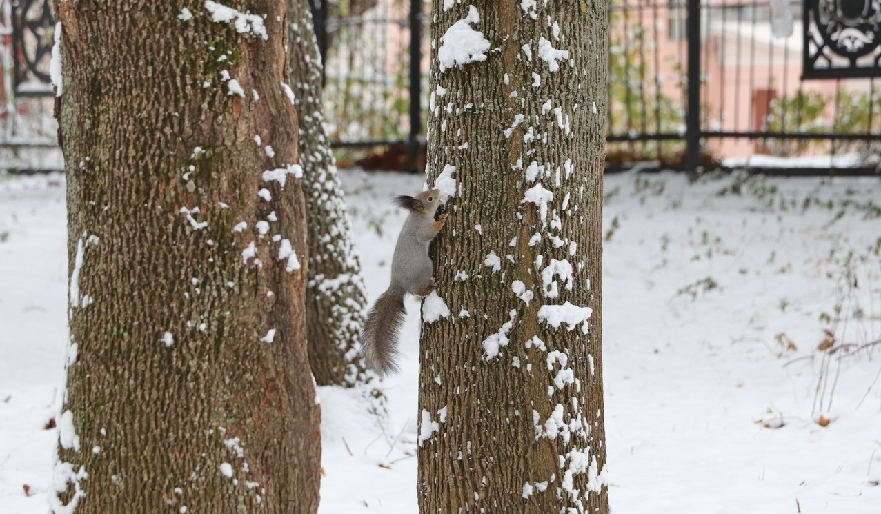
<instances>
[{"instance_id":1,"label":"black ornate ironwork panel at the fence's far right corner","mask_svg":"<svg viewBox=\"0 0 881 514\"><path fill-rule=\"evenodd\" d=\"M881 0L805 0L802 78L881 77Z\"/></svg>"}]
</instances>

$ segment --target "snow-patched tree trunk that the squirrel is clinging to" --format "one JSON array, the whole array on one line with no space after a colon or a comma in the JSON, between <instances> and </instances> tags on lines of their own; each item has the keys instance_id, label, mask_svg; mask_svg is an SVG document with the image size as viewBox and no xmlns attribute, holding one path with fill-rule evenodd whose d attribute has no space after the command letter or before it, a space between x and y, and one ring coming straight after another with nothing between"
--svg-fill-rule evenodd
<instances>
[{"instance_id":1,"label":"snow-patched tree trunk that the squirrel is clinging to","mask_svg":"<svg viewBox=\"0 0 881 514\"><path fill-rule=\"evenodd\" d=\"M419 511L608 512L607 4L445 4L429 183L455 197L423 307Z\"/></svg>"}]
</instances>

